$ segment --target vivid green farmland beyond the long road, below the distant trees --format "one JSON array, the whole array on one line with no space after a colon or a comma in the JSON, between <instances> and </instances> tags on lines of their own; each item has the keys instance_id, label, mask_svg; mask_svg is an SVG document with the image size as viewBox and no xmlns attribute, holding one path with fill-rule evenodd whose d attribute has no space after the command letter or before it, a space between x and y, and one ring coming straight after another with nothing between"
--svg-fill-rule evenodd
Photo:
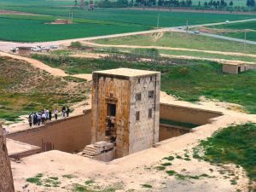
<instances>
[{"instance_id":1,"label":"vivid green farmland beyond the long road, below the distant trees","mask_svg":"<svg viewBox=\"0 0 256 192\"><path fill-rule=\"evenodd\" d=\"M6 3L6 1L0 0L1 9L39 14L38 16L0 15L0 39L35 42L144 31L156 27L159 15L157 11L148 10L96 9L96 11L91 12L79 8L61 7L60 5L66 6L67 2L54 1L51 4L44 0L36 3L32 0L11 0ZM70 9L73 9L75 24L45 24L56 18L68 18ZM159 26L183 26L187 20L189 20L189 25L195 25L224 20L244 20L254 17L253 15L161 11ZM19 35L17 35L17 32L19 32Z\"/></svg>"}]
</instances>

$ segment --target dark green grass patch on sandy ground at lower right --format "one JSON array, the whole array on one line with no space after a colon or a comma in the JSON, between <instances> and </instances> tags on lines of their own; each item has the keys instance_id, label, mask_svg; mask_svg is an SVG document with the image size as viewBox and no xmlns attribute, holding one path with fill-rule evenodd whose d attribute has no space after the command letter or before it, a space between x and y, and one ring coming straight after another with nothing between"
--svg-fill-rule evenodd
<instances>
[{"instance_id":1,"label":"dark green grass patch on sandy ground at lower right","mask_svg":"<svg viewBox=\"0 0 256 192\"><path fill-rule=\"evenodd\" d=\"M247 176L256 181L256 125L233 125L217 131L212 137L201 141L203 160L217 164L233 163L242 166ZM233 182L235 184L235 182Z\"/></svg>"}]
</instances>

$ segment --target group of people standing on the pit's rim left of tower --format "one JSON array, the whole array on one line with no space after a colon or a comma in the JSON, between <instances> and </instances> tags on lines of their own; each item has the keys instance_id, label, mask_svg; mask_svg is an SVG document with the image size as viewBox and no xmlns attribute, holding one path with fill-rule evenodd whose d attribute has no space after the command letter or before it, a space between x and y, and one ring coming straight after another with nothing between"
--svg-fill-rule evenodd
<instances>
[{"instance_id":1,"label":"group of people standing on the pit's rim left of tower","mask_svg":"<svg viewBox=\"0 0 256 192\"><path fill-rule=\"evenodd\" d=\"M63 118L66 118L69 116L70 109L66 106L63 106L62 110L62 116ZM54 117L55 120L58 119L58 109L55 108L54 110ZM52 119L52 111L48 109L44 109L40 112L32 112L28 115L28 123L29 126L32 127L32 125L44 125L47 121L51 121Z\"/></svg>"}]
</instances>

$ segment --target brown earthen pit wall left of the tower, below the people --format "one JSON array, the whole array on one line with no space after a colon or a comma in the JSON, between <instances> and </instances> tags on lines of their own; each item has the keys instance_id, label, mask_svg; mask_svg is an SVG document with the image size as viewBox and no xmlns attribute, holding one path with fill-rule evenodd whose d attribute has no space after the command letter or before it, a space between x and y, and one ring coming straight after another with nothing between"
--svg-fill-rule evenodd
<instances>
[{"instance_id":1,"label":"brown earthen pit wall left of the tower, below the people","mask_svg":"<svg viewBox=\"0 0 256 192\"><path fill-rule=\"evenodd\" d=\"M90 144L90 110L84 114L59 119L33 129L10 133L8 138L43 148L52 143L56 150L73 153Z\"/></svg>"}]
</instances>

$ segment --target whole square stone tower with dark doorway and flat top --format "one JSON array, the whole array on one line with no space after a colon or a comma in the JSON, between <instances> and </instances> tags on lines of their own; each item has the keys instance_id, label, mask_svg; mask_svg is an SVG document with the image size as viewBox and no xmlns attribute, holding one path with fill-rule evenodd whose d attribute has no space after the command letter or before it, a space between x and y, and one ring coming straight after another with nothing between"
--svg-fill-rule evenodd
<instances>
[{"instance_id":1,"label":"whole square stone tower with dark doorway and flat top","mask_svg":"<svg viewBox=\"0 0 256 192\"><path fill-rule=\"evenodd\" d=\"M93 73L92 143L115 144L123 157L159 140L160 73L118 68Z\"/></svg>"}]
</instances>

